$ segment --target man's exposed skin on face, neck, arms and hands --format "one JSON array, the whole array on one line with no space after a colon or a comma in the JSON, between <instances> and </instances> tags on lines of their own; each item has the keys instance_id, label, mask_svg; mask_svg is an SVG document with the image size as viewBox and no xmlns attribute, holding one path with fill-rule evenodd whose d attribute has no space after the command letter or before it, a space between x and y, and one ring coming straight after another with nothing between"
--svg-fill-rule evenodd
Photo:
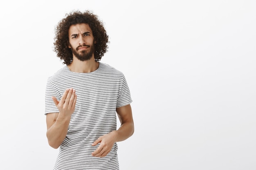
<instances>
[{"instance_id":1,"label":"man's exposed skin on face, neck, arms and hands","mask_svg":"<svg viewBox=\"0 0 256 170\"><path fill-rule=\"evenodd\" d=\"M84 53L90 51L91 47L96 43L92 34L92 30L88 24L76 24L70 26L69 29L68 48L76 49L82 46L76 52ZM70 71L77 73L90 73L99 68L99 62L94 60L94 54L90 60L81 61L73 54L73 61L68 65ZM76 105L76 91L73 88L68 88L63 93L61 100L52 97L59 113L48 113L46 116L47 124L47 139L50 146L58 148L67 135L67 129L70 123L71 115L74 113ZM114 130L106 135L99 137L92 143L92 146L100 144L98 148L92 152L93 157L105 157L112 149L115 142L124 141L134 132L134 123L132 118L132 109L130 104L116 108L121 126L118 130Z\"/></svg>"}]
</instances>

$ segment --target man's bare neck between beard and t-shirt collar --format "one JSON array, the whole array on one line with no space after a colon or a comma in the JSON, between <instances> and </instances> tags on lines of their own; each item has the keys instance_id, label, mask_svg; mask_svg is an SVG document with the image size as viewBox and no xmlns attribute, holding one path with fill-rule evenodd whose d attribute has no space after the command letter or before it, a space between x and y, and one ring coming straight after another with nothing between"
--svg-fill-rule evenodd
<instances>
[{"instance_id":1,"label":"man's bare neck between beard and t-shirt collar","mask_svg":"<svg viewBox=\"0 0 256 170\"><path fill-rule=\"evenodd\" d=\"M91 73L99 68L99 62L94 60L94 56L90 60L80 61L73 56L73 61L67 66L70 71L76 73Z\"/></svg>"}]
</instances>

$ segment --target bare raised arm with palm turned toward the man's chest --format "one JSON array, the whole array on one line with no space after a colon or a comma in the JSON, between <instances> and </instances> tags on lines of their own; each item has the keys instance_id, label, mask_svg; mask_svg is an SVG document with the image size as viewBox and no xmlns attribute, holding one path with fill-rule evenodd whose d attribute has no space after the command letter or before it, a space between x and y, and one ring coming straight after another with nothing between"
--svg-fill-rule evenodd
<instances>
[{"instance_id":1,"label":"bare raised arm with palm turned toward the man's chest","mask_svg":"<svg viewBox=\"0 0 256 170\"><path fill-rule=\"evenodd\" d=\"M52 97L59 113L48 113L46 115L48 143L52 148L58 148L67 135L67 128L70 124L70 118L74 113L76 105L76 94L72 88L67 89L61 100Z\"/></svg>"}]
</instances>

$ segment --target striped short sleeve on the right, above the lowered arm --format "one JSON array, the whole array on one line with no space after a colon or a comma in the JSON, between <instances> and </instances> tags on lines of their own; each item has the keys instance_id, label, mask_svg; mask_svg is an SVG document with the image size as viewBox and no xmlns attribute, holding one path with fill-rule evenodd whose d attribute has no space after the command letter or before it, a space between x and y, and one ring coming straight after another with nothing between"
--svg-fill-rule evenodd
<instances>
[{"instance_id":1,"label":"striped short sleeve on the right, above the lowered arm","mask_svg":"<svg viewBox=\"0 0 256 170\"><path fill-rule=\"evenodd\" d=\"M121 106L126 106L132 102L132 98L130 95L130 90L128 87L128 84L126 82L126 78L123 77L123 83L121 86L121 91L119 93L118 99L117 99L117 108Z\"/></svg>"}]
</instances>

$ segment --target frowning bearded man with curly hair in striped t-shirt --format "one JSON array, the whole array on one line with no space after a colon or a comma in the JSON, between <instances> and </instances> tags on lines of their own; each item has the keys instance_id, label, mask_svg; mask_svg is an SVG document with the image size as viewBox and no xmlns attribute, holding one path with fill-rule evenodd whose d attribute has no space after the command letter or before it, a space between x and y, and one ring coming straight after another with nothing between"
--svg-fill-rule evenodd
<instances>
[{"instance_id":1,"label":"frowning bearded man with curly hair in striped t-shirt","mask_svg":"<svg viewBox=\"0 0 256 170\"><path fill-rule=\"evenodd\" d=\"M119 169L116 142L134 132L132 99L123 73L99 62L107 43L90 11L69 13L56 27L54 48L65 66L45 91L47 139L59 148L54 170Z\"/></svg>"}]
</instances>

